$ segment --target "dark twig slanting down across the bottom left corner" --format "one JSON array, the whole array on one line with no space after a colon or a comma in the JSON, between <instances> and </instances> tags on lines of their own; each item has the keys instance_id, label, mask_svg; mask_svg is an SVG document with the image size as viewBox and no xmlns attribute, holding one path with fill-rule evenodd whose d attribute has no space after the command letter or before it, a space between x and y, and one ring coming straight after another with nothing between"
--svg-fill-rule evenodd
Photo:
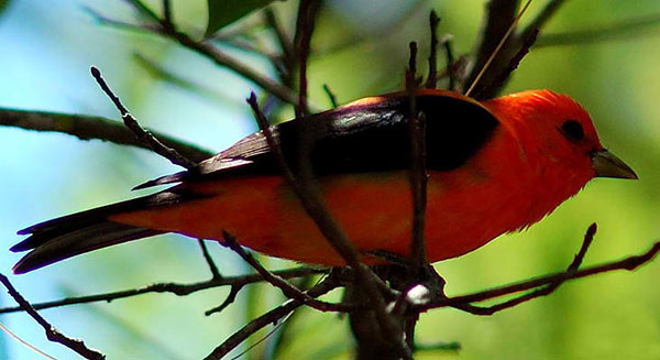
<instances>
[{"instance_id":1,"label":"dark twig slanting down across the bottom left corner","mask_svg":"<svg viewBox=\"0 0 660 360\"><path fill-rule=\"evenodd\" d=\"M97 350L88 348L82 340L72 339L66 335L59 332L59 330L57 330L51 323L44 319L43 316L41 316L34 309L34 307L32 307L30 303L28 303L28 301L15 290L15 287L13 287L9 279L7 279L7 276L4 276L3 274L0 274L0 282L2 283L2 285L4 285L4 287L7 287L9 295L11 295L11 297L13 297L13 299L16 303L19 303L19 306L44 328L44 331L46 332L46 338L48 340L64 345L65 347L76 351L85 359L106 359L105 354Z\"/></svg>"}]
</instances>

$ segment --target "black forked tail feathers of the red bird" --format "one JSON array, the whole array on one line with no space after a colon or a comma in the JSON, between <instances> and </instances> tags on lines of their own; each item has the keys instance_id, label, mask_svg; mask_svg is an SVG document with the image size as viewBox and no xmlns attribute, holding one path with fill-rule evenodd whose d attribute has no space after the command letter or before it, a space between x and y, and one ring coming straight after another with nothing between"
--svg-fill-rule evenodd
<instances>
[{"instance_id":1,"label":"black forked tail feathers of the red bird","mask_svg":"<svg viewBox=\"0 0 660 360\"><path fill-rule=\"evenodd\" d=\"M150 198L136 198L73 214L19 231L19 234L30 234L30 238L10 250L31 251L13 266L13 272L26 273L92 250L163 233L108 220L111 215L144 206Z\"/></svg>"}]
</instances>

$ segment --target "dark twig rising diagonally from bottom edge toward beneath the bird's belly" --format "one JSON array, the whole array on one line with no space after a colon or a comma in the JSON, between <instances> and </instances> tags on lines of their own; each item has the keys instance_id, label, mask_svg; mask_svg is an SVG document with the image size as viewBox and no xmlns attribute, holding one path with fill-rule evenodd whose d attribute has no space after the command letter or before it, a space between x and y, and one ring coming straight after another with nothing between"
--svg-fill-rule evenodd
<instances>
[{"instance_id":1,"label":"dark twig rising diagonally from bottom edge toward beneath the bird's belly","mask_svg":"<svg viewBox=\"0 0 660 360\"><path fill-rule=\"evenodd\" d=\"M311 297L319 297L331 290L338 287L340 284L334 280L332 275L328 276L326 280L320 282L318 285L310 288L307 294ZM232 334L224 342L222 342L219 347L213 349L213 351L207 356L206 360L219 360L222 359L226 354L228 354L231 350L235 349L239 345L241 345L248 337L252 334L258 331L263 327L268 324L275 324L278 320L286 317L289 313L295 310L296 308L304 305L302 302L298 299L289 299L286 303L275 307L274 309L265 313L264 315L253 319L243 326L240 330Z\"/></svg>"}]
</instances>

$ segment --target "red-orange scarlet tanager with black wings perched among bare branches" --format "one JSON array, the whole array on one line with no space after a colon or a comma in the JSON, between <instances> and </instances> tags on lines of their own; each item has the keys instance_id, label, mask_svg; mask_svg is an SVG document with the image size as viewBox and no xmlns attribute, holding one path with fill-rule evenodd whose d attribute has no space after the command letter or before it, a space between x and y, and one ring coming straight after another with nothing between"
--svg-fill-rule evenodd
<instances>
[{"instance_id":1,"label":"red-orange scarlet tanager with black wings perched among bare branches","mask_svg":"<svg viewBox=\"0 0 660 360\"><path fill-rule=\"evenodd\" d=\"M522 91L477 102L419 90L427 121L430 262L475 250L539 221L594 177L637 178L601 145L587 112L565 95ZM285 160L298 164L299 121L330 214L366 263L375 250L409 253L413 200L409 95L371 97L272 128ZM295 170L295 168L294 168ZM31 250L25 273L88 251L164 232L222 240L222 231L258 252L305 263L343 265L280 175L263 132L197 167L139 187L160 193L37 223L11 248Z\"/></svg>"}]
</instances>

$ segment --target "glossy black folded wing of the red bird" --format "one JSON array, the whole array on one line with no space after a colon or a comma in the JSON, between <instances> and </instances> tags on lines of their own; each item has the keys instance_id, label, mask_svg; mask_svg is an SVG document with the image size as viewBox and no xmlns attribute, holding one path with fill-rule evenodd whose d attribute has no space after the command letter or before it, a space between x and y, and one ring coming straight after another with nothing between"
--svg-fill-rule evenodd
<instances>
[{"instance_id":1,"label":"glossy black folded wing of the red bird","mask_svg":"<svg viewBox=\"0 0 660 360\"><path fill-rule=\"evenodd\" d=\"M271 128L287 164L297 171L307 154L317 176L386 172L410 167L410 109L406 94L369 98ZM461 166L488 140L497 119L481 105L461 97L418 95L416 110L427 123L427 166ZM301 139L300 134L305 134ZM304 140L304 141L301 141ZM279 165L263 132L237 142L197 168L161 177L139 188L229 176L275 175Z\"/></svg>"}]
</instances>

